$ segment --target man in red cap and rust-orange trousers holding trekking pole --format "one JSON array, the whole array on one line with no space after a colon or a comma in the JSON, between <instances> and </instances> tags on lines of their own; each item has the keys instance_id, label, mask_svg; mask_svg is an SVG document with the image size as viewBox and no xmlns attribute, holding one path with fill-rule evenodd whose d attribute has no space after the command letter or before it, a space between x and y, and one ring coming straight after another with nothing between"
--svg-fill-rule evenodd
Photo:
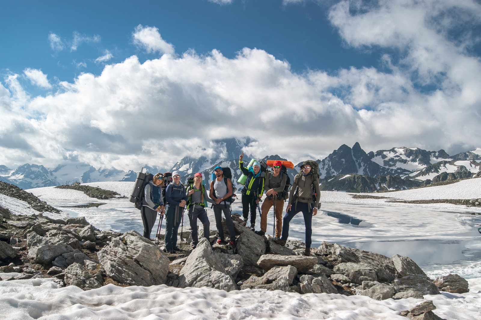
<instances>
[{"instance_id":1,"label":"man in red cap and rust-orange trousers holding trekking pole","mask_svg":"<svg viewBox=\"0 0 481 320\"><path fill-rule=\"evenodd\" d=\"M262 204L261 214L261 230L255 233L263 236L267 230L267 213L271 206L274 205L276 216L276 234L273 238L280 238L282 230L282 210L284 209L284 187L286 186L287 175L280 171L282 163L279 160L274 161L272 172L266 173L266 182L264 183L264 190L266 190L266 199Z\"/></svg>"}]
</instances>

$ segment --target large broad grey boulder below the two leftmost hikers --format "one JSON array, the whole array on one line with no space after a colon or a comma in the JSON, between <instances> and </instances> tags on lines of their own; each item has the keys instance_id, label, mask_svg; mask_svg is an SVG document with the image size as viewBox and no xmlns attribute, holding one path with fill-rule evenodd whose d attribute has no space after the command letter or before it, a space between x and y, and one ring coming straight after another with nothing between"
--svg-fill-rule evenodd
<instances>
[{"instance_id":1,"label":"large broad grey boulder below the two leftmost hikers","mask_svg":"<svg viewBox=\"0 0 481 320\"><path fill-rule=\"evenodd\" d=\"M143 286L166 281L169 258L135 230L113 239L97 256L107 275L115 281Z\"/></svg>"}]
</instances>

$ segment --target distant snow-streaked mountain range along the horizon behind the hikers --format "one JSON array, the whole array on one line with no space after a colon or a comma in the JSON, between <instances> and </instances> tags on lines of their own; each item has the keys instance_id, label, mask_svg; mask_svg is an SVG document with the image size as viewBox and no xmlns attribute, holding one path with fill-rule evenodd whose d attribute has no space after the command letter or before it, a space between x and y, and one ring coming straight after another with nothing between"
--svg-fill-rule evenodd
<instances>
[{"instance_id":1,"label":"distant snow-streaked mountain range along the horizon behind the hikers","mask_svg":"<svg viewBox=\"0 0 481 320\"><path fill-rule=\"evenodd\" d=\"M193 176L196 172L201 172L208 185L210 174L214 171L215 166L228 166L232 171L234 185L240 188L241 185L237 183L237 179L241 176L238 165L239 154L246 150L245 148L249 147L252 142L255 142L255 140L250 137L211 141L211 146L214 147L209 157L205 155L199 157L185 156L177 161L169 171L179 171L182 182L185 182L188 177ZM203 151L205 149L200 146L199 153L202 154ZM244 155L244 166L247 166L251 159L252 155L246 153ZM260 160L274 159L286 160L279 155L265 156ZM321 179L342 174L357 174L373 178L396 176L426 181L443 172L469 171L474 174L480 170L481 161L479 159L481 159L481 148L453 156L450 156L444 150L426 151L406 147L366 153L361 145L356 142L352 148L343 144L326 158L317 159L316 162L319 164ZM302 162L298 163L294 169L288 170L291 180L299 172L301 164ZM96 169L86 163L65 163L53 169L35 164L25 164L16 169L0 165L0 181L15 184L22 189L72 184L75 181L81 183L135 181L139 169L136 168L127 172L116 168ZM155 174L165 172L165 169L145 165L144 172ZM409 185L409 183L407 184Z\"/></svg>"}]
</instances>

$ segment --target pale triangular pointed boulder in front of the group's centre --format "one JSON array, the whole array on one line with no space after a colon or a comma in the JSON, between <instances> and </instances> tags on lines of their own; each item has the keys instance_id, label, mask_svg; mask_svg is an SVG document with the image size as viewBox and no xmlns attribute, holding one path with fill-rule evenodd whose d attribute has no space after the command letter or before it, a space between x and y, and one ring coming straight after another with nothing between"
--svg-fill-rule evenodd
<instances>
[{"instance_id":1,"label":"pale triangular pointed boulder in front of the group's centre","mask_svg":"<svg viewBox=\"0 0 481 320\"><path fill-rule=\"evenodd\" d=\"M224 269L219 257L213 254L212 247L205 238L199 241L187 258L180 271L178 286L180 288L205 286L225 291L237 289L234 279Z\"/></svg>"}]
</instances>

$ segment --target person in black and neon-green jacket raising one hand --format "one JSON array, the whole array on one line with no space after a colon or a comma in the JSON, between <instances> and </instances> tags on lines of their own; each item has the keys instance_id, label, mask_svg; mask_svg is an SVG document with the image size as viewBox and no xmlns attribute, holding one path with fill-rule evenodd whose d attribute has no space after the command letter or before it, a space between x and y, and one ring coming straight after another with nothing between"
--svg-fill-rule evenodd
<instances>
[{"instance_id":1,"label":"person in black and neon-green jacket raising one hand","mask_svg":"<svg viewBox=\"0 0 481 320\"><path fill-rule=\"evenodd\" d=\"M252 166L249 166L248 168L244 167L242 161L243 156L244 153L239 156L239 168L247 177L247 179L245 180L245 185L242 188L242 216L244 217L244 222L247 225L250 206L251 230L255 230L255 209L261 200L262 194L264 193L266 174L261 171L261 164L258 161L254 161Z\"/></svg>"}]
</instances>

